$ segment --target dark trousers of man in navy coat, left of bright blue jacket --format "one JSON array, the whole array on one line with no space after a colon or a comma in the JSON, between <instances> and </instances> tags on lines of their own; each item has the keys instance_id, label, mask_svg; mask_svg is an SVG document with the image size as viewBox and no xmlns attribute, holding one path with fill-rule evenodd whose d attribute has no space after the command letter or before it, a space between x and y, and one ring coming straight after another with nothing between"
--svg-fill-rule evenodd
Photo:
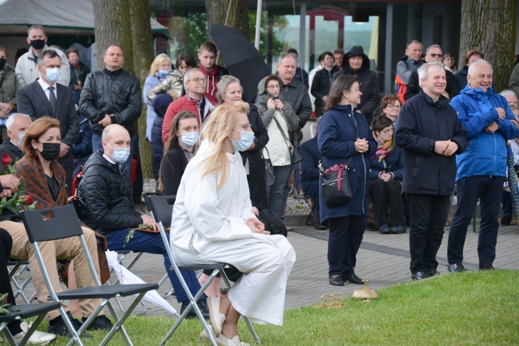
<instances>
[{"instance_id":1,"label":"dark trousers of man in navy coat, left of bright blue jacket","mask_svg":"<svg viewBox=\"0 0 519 346\"><path fill-rule=\"evenodd\" d=\"M411 273L435 271L436 255L444 237L450 195L408 194L411 210L409 251Z\"/></svg>"}]
</instances>

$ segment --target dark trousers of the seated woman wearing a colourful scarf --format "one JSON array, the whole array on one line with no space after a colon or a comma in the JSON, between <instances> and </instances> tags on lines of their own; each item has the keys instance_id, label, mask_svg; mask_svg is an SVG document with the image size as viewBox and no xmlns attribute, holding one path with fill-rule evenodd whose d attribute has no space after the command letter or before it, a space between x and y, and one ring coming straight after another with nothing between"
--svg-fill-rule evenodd
<instances>
[{"instance_id":1,"label":"dark trousers of the seated woman wearing a colourful scarf","mask_svg":"<svg viewBox=\"0 0 519 346\"><path fill-rule=\"evenodd\" d=\"M370 180L370 195L373 197L375 222L379 225L406 226L406 215L403 208L402 183L391 179ZM389 214L388 214L389 203Z\"/></svg>"}]
</instances>

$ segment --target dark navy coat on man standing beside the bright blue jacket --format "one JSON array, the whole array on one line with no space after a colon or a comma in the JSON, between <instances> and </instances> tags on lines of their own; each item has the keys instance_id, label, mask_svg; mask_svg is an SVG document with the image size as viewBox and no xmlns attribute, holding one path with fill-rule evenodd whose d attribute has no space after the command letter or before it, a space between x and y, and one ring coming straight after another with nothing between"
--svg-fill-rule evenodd
<instances>
[{"instance_id":1,"label":"dark navy coat on man standing beside the bright blue jacket","mask_svg":"<svg viewBox=\"0 0 519 346\"><path fill-rule=\"evenodd\" d=\"M434 102L420 91L403 104L394 132L397 145L403 149L403 192L452 194L456 157L436 154L435 142L450 139L458 145L455 154L461 154L467 147L466 135L455 109L444 96Z\"/></svg>"}]
</instances>

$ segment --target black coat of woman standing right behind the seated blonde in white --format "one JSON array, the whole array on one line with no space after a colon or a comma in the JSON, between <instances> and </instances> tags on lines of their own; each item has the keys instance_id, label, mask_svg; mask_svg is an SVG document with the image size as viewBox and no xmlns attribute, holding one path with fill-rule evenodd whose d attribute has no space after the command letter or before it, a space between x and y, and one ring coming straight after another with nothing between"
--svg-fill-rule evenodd
<instances>
[{"instance_id":1,"label":"black coat of woman standing right behind the seated blonde in white","mask_svg":"<svg viewBox=\"0 0 519 346\"><path fill-rule=\"evenodd\" d=\"M264 210L268 208L268 200L266 198L265 165L261 151L268 143L268 132L254 104L251 104L251 109L247 116L254 132L254 143L256 146L253 150L239 152L239 154L242 155L244 165L248 160L249 173L247 182L253 206L259 210Z\"/></svg>"}]
</instances>

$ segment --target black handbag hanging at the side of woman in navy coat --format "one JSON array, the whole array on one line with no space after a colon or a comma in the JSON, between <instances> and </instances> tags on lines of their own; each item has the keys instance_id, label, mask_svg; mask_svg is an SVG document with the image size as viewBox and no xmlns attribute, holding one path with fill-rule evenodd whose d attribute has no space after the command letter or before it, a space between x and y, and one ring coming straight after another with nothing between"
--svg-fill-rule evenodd
<instances>
[{"instance_id":1,"label":"black handbag hanging at the side of woman in navy coat","mask_svg":"<svg viewBox=\"0 0 519 346\"><path fill-rule=\"evenodd\" d=\"M329 207L348 203L352 197L352 187L349 185L349 162L333 165L321 173L321 192L325 204Z\"/></svg>"}]
</instances>

